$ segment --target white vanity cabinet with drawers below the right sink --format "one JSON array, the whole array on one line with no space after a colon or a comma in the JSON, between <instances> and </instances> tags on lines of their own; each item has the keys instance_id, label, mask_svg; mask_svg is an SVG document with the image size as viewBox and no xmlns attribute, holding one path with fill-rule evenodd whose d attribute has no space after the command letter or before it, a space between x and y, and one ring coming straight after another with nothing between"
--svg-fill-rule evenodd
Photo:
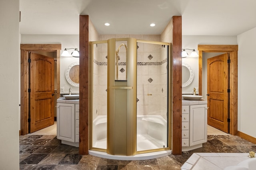
<instances>
[{"instance_id":1,"label":"white vanity cabinet with drawers below the right sink","mask_svg":"<svg viewBox=\"0 0 256 170\"><path fill-rule=\"evenodd\" d=\"M182 151L207 142L207 101L182 100Z\"/></svg>"}]
</instances>

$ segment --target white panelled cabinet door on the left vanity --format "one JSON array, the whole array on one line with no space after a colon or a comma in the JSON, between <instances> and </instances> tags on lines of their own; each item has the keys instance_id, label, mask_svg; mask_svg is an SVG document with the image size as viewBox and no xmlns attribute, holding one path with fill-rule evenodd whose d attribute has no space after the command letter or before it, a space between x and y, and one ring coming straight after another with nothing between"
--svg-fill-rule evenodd
<instances>
[{"instance_id":1,"label":"white panelled cabinet door on the left vanity","mask_svg":"<svg viewBox=\"0 0 256 170\"><path fill-rule=\"evenodd\" d=\"M74 104L57 104L57 139L75 142Z\"/></svg>"}]
</instances>

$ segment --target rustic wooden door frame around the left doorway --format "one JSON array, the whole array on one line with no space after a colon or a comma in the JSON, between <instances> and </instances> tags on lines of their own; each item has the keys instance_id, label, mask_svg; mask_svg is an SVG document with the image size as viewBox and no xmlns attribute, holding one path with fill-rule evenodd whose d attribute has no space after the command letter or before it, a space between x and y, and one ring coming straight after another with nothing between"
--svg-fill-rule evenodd
<instances>
[{"instance_id":1,"label":"rustic wooden door frame around the left doorway","mask_svg":"<svg viewBox=\"0 0 256 170\"><path fill-rule=\"evenodd\" d=\"M21 86L20 86L20 101L21 101L21 107L20 107L20 135L26 135L32 131L30 131L30 55L31 53L35 55L50 55L52 57L49 57L50 60L54 60L54 65L56 66L54 72L56 79L52 79L51 81L54 81L54 90L50 92L50 96L53 96L53 100L57 100L60 97L60 50L61 50L61 44L21 44L20 45L21 50ZM42 57L43 58L43 57ZM52 59L51 59L52 58ZM55 58L55 59L54 59ZM42 61L42 60L40 60ZM48 62L49 63L49 62ZM50 64L49 64L50 66ZM49 67L47 66L47 67ZM42 66L42 69L45 66ZM49 70L48 68L46 69ZM40 96L40 95L37 95ZM45 100L49 101L49 100ZM46 104L47 102L44 102ZM52 110L54 111L55 105L52 104ZM47 117L47 116L46 116ZM55 116L54 116L55 117ZM53 117L53 122L54 122ZM52 121L49 120L49 121ZM46 123L49 124L49 123ZM40 129L40 128L39 128ZM36 130L39 130L36 129Z\"/></svg>"}]
</instances>

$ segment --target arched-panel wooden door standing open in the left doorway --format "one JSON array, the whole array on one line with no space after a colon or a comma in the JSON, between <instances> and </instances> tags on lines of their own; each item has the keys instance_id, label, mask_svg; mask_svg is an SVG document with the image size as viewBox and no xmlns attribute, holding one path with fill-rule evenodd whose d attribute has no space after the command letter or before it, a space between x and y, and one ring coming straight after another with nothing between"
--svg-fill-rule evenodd
<instances>
[{"instance_id":1,"label":"arched-panel wooden door standing open in the left doorway","mask_svg":"<svg viewBox=\"0 0 256 170\"><path fill-rule=\"evenodd\" d=\"M54 124L54 59L30 55L30 130Z\"/></svg>"}]
</instances>

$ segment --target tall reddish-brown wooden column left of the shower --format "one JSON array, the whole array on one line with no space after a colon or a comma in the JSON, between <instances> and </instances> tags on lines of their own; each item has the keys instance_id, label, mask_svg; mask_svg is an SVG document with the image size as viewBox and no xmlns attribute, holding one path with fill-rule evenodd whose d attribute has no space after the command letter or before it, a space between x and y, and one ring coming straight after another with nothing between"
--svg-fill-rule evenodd
<instances>
[{"instance_id":1,"label":"tall reddish-brown wooden column left of the shower","mask_svg":"<svg viewBox=\"0 0 256 170\"><path fill-rule=\"evenodd\" d=\"M80 15L79 30L79 154L89 150L89 16Z\"/></svg>"}]
</instances>

